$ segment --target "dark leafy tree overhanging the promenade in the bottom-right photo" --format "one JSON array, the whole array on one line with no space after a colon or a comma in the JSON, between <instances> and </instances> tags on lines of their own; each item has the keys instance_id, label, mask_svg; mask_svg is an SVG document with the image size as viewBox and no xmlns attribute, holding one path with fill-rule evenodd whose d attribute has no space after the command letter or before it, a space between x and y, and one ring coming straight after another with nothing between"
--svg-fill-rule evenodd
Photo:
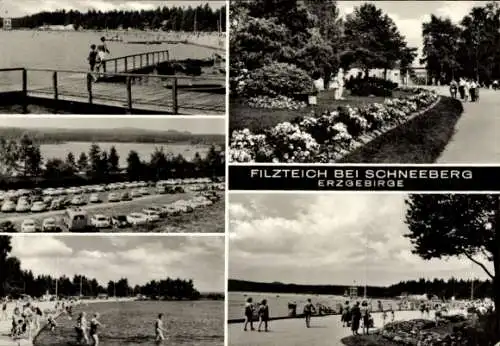
<instances>
[{"instance_id":1,"label":"dark leafy tree overhanging the promenade in the bottom-right photo","mask_svg":"<svg viewBox=\"0 0 500 346\"><path fill-rule=\"evenodd\" d=\"M465 257L493 282L495 311L500 308L500 199L497 195L411 195L406 235L423 259ZM491 268L491 264L493 265ZM497 335L500 318L497 315Z\"/></svg>"}]
</instances>

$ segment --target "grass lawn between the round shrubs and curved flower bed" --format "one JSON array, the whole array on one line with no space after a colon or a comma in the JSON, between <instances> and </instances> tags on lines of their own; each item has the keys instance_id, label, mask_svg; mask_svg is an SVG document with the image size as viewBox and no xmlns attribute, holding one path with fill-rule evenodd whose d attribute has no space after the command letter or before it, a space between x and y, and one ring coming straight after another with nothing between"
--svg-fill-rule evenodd
<instances>
[{"instance_id":1,"label":"grass lawn between the round shrubs and curved flower bed","mask_svg":"<svg viewBox=\"0 0 500 346\"><path fill-rule=\"evenodd\" d=\"M391 98L408 95L407 91L396 90ZM231 99L229 105L229 128L230 131L248 128L253 133L262 133L281 122L291 121L299 116L304 116L313 109L323 111L336 109L339 106L350 105L352 107L371 103L384 102L384 97L360 97L347 95L345 100L334 100L333 91L323 91L318 95L318 104L314 107L308 106L300 110L288 109L260 109L251 108L242 99Z\"/></svg>"}]
</instances>

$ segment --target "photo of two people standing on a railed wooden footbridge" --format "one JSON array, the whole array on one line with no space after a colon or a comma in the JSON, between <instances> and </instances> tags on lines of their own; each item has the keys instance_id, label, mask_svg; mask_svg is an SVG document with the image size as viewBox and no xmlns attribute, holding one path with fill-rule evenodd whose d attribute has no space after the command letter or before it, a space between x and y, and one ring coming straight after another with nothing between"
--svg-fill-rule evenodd
<instances>
[{"instance_id":1,"label":"photo of two people standing on a railed wooden footbridge","mask_svg":"<svg viewBox=\"0 0 500 346\"><path fill-rule=\"evenodd\" d=\"M223 117L226 10L226 1L4 0L0 113Z\"/></svg>"}]
</instances>

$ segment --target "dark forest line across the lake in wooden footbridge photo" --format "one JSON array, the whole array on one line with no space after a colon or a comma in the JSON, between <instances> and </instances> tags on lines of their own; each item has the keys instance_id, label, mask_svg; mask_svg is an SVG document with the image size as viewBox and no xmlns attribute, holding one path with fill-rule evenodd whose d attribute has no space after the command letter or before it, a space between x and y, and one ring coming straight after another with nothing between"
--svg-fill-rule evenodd
<instances>
[{"instance_id":1,"label":"dark forest line across the lake in wooden footbridge photo","mask_svg":"<svg viewBox=\"0 0 500 346\"><path fill-rule=\"evenodd\" d=\"M220 21L220 23L219 23ZM75 10L44 11L14 18L13 28L38 28L44 25L71 25L84 30L153 29L173 31L226 31L226 7L211 8L208 3L197 7L158 7L141 11Z\"/></svg>"}]
</instances>

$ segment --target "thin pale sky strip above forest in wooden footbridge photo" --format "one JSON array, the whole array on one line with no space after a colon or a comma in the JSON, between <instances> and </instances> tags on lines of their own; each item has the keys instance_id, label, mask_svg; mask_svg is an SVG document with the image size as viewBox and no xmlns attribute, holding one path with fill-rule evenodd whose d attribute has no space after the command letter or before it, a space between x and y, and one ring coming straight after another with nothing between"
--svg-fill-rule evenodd
<instances>
[{"instance_id":1,"label":"thin pale sky strip above forest in wooden footbridge photo","mask_svg":"<svg viewBox=\"0 0 500 346\"><path fill-rule=\"evenodd\" d=\"M0 14L9 17L21 17L42 11L79 10L82 12L95 9L112 10L151 10L157 7L187 7L205 5L208 3L217 9L224 6L224 1L203 0L0 0Z\"/></svg>"}]
</instances>

